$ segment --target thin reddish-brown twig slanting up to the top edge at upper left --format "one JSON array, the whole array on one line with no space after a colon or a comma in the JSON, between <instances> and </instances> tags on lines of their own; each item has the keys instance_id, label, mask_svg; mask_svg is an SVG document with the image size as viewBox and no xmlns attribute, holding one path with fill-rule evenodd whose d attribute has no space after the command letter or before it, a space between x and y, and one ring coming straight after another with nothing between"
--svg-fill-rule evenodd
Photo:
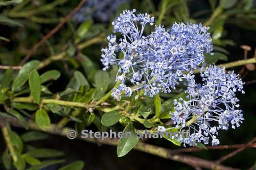
<instances>
[{"instance_id":1,"label":"thin reddish-brown twig slanting up to the top edge at upper left","mask_svg":"<svg viewBox=\"0 0 256 170\"><path fill-rule=\"evenodd\" d=\"M34 47L28 52L28 54L22 59L19 66L22 66L24 63L28 61L28 59L31 57L32 53L34 53L38 47L40 47L46 40L48 40L51 36L53 36L56 32L60 30L60 28L77 12L80 8L84 5L86 0L81 0L80 3L74 8L69 14L55 27L52 29L51 32L49 32L46 36L42 38Z\"/></svg>"}]
</instances>

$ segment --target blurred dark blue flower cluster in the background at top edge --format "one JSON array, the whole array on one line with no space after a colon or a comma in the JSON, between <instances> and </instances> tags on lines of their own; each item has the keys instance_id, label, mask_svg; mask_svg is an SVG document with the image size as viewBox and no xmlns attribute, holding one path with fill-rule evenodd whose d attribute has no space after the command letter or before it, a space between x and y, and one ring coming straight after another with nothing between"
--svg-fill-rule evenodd
<instances>
[{"instance_id":1,"label":"blurred dark blue flower cluster in the background at top edge","mask_svg":"<svg viewBox=\"0 0 256 170\"><path fill-rule=\"evenodd\" d=\"M108 22L110 16L116 11L120 5L129 3L131 0L87 0L76 14L73 20L76 22L84 22L89 18L96 18L101 22Z\"/></svg>"}]
</instances>

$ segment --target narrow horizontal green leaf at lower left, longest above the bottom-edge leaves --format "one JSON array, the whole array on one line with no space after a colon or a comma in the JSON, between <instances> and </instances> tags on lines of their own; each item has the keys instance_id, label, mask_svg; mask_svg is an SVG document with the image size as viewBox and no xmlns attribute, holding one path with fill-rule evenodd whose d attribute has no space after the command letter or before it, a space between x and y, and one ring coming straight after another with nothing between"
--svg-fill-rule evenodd
<instances>
[{"instance_id":1,"label":"narrow horizontal green leaf at lower left, longest above the bottom-edge leaves","mask_svg":"<svg viewBox=\"0 0 256 170\"><path fill-rule=\"evenodd\" d=\"M26 154L36 158L53 158L64 156L64 152L62 151L47 148L32 149L29 150Z\"/></svg>"}]
</instances>

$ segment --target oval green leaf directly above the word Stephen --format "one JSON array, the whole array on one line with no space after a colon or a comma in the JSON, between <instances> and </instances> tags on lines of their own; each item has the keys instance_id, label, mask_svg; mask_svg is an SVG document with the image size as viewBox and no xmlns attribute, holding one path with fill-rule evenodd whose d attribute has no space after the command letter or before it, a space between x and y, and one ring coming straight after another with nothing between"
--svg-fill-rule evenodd
<instances>
[{"instance_id":1,"label":"oval green leaf directly above the word Stephen","mask_svg":"<svg viewBox=\"0 0 256 170\"><path fill-rule=\"evenodd\" d=\"M120 118L121 118L121 115L120 113L118 113L118 111L110 111L105 113L102 116L101 123L106 127L110 127L116 124Z\"/></svg>"}]
</instances>

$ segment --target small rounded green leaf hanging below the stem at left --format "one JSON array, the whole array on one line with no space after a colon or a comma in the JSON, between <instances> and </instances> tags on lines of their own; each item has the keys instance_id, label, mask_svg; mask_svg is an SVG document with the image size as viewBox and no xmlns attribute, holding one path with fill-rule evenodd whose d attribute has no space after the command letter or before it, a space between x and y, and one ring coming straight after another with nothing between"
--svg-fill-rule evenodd
<instances>
[{"instance_id":1,"label":"small rounded green leaf hanging below the stem at left","mask_svg":"<svg viewBox=\"0 0 256 170\"><path fill-rule=\"evenodd\" d=\"M36 111L36 123L43 130L45 130L45 127L51 125L49 115L44 109L39 109Z\"/></svg>"}]
</instances>

